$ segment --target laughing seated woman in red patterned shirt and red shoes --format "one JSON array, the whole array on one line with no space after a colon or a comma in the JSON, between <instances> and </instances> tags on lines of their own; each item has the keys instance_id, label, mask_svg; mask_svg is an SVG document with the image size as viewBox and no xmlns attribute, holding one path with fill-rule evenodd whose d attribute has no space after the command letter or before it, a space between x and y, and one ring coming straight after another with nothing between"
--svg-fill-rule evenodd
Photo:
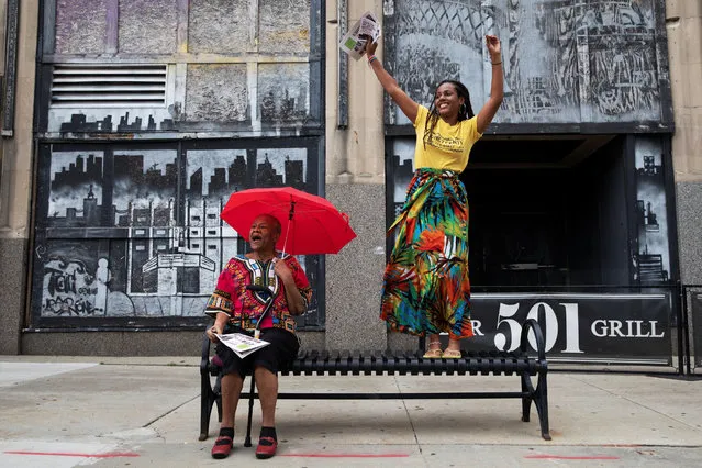
<instances>
[{"instance_id":1,"label":"laughing seated woman in red patterned shirt and red shoes","mask_svg":"<svg viewBox=\"0 0 702 468\"><path fill-rule=\"evenodd\" d=\"M216 355L222 361L222 425L212 447L212 457L225 458L234 439L234 414L244 386L244 377L256 379L261 409L261 430L256 448L257 458L276 454L276 401L278 399L278 370L292 360L300 347L292 315L308 309L312 298L310 282L294 257L276 252L280 237L280 222L261 214L252 223L249 245L252 252L230 259L220 275L216 288L208 302L205 313L215 317L208 330L212 343L216 334L235 331L261 330L260 339L270 343L239 358L227 346L219 343ZM247 285L268 287L272 307L261 319L268 296L246 289ZM260 324L258 322L260 321Z\"/></svg>"}]
</instances>

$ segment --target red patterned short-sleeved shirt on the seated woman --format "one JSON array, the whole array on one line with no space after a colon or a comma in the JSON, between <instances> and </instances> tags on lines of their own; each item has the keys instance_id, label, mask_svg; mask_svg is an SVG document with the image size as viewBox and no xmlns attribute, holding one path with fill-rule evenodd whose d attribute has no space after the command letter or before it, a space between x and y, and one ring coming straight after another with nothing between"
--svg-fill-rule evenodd
<instances>
[{"instance_id":1,"label":"red patterned short-sleeved shirt on the seated woman","mask_svg":"<svg viewBox=\"0 0 702 468\"><path fill-rule=\"evenodd\" d=\"M304 270L298 260L290 255L276 253L290 270L307 310L312 299L312 289ZM274 272L272 261L261 263L237 255L230 259L220 274L214 292L208 301L205 314L215 317L223 312L230 317L230 324L244 330L254 330L266 308L268 294L249 291L247 285L266 286L272 290L274 304L260 328L278 327L288 332L296 332L294 317L288 310L285 286Z\"/></svg>"}]
</instances>

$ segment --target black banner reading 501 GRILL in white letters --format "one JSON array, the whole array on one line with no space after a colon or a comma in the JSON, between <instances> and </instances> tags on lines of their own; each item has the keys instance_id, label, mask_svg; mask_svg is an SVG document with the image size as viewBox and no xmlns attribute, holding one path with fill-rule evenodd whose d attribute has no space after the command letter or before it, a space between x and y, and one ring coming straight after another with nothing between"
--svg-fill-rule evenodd
<instances>
[{"instance_id":1,"label":"black banner reading 501 GRILL in white letters","mask_svg":"<svg viewBox=\"0 0 702 468\"><path fill-rule=\"evenodd\" d=\"M517 349L522 324L534 319L551 356L671 359L668 293L472 294L471 302L476 337L499 350ZM534 332L527 339L536 349Z\"/></svg>"}]
</instances>

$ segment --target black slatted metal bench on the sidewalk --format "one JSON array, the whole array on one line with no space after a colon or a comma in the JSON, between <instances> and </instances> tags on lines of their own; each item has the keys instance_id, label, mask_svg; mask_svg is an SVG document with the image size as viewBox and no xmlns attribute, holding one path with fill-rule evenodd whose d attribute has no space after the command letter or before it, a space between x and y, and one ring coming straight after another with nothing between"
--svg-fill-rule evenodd
<instances>
[{"instance_id":1,"label":"black slatted metal bench on the sidewalk","mask_svg":"<svg viewBox=\"0 0 702 468\"><path fill-rule=\"evenodd\" d=\"M536 339L536 356L526 352L527 333L532 330ZM463 352L459 359L425 359L424 352L416 353L328 353L301 350L288 369L281 370L281 376L383 376L383 375L470 375L470 376L512 376L521 379L521 391L512 392L442 392L442 393L279 393L279 399L291 400L391 400L391 399L502 399L519 398L522 400L522 421L530 421L532 402L536 406L541 423L542 437L550 441L548 432L548 397L546 374L548 363L544 350L544 338L537 322L530 319L522 325L521 346L515 353L501 352ZM536 377L536 387L532 383ZM207 335L202 342L202 360L200 361L201 378L201 413L200 441L208 438L212 406L216 404L219 420L222 421L222 394L220 392L221 368L212 363L210 356L210 341ZM242 399L248 399L248 423L244 445L250 447L250 430L254 399L258 398L254 391L254 379L248 393L242 393ZM214 383L213 383L214 380Z\"/></svg>"}]
</instances>

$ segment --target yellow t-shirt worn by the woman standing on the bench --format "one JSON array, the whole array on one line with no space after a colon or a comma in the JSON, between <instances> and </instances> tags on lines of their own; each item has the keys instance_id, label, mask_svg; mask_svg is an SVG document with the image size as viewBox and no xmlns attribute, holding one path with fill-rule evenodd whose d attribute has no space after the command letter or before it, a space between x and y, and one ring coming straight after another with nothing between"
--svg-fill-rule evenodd
<instances>
[{"instance_id":1,"label":"yellow t-shirt worn by the woman standing on the bench","mask_svg":"<svg viewBox=\"0 0 702 468\"><path fill-rule=\"evenodd\" d=\"M468 165L470 148L482 136L478 133L478 121L473 116L449 125L439 116L434 126L434 136L424 147L424 132L428 109L419 107L414 129L416 144L414 146L414 167L416 169L448 169L463 172Z\"/></svg>"}]
</instances>

